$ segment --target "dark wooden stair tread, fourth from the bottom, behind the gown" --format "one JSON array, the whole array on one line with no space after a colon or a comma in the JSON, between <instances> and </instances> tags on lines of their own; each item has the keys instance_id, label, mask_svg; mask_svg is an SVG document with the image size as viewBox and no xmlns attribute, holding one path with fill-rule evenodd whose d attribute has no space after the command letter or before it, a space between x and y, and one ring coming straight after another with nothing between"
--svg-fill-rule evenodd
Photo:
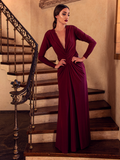
<instances>
[{"instance_id":1,"label":"dark wooden stair tread, fourth from the bottom, behind the gown","mask_svg":"<svg viewBox=\"0 0 120 160\"><path fill-rule=\"evenodd\" d=\"M105 93L104 90L100 90L100 89L91 89L88 88L88 94L101 94L101 93ZM49 99L49 98L58 98L59 97L59 92L46 92L46 93L37 93L35 94L35 98L36 99Z\"/></svg>"}]
</instances>

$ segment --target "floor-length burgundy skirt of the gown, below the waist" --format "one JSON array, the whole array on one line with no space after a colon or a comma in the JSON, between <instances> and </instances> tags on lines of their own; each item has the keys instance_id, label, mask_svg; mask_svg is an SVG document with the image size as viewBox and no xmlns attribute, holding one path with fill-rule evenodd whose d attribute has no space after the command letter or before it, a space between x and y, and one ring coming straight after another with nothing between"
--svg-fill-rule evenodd
<instances>
[{"instance_id":1,"label":"floor-length burgundy skirt of the gown, below the waist","mask_svg":"<svg viewBox=\"0 0 120 160\"><path fill-rule=\"evenodd\" d=\"M83 62L58 69L59 105L56 147L76 152L90 143L88 89Z\"/></svg>"}]
</instances>

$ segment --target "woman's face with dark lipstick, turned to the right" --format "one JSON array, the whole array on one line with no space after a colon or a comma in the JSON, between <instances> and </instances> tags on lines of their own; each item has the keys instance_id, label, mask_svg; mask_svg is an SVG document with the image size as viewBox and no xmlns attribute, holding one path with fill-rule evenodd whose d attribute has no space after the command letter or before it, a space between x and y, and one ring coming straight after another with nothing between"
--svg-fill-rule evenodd
<instances>
[{"instance_id":1,"label":"woman's face with dark lipstick, turned to the right","mask_svg":"<svg viewBox=\"0 0 120 160\"><path fill-rule=\"evenodd\" d=\"M57 18L57 23L62 23L64 25L67 24L70 16L70 10L68 8L64 8L63 10L60 11L59 15L56 16Z\"/></svg>"}]
</instances>

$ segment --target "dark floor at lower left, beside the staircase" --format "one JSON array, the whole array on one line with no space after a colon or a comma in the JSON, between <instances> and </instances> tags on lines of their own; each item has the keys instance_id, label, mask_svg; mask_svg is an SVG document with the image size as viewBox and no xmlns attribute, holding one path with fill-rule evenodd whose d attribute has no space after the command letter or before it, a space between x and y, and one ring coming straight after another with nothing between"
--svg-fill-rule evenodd
<instances>
[{"instance_id":1,"label":"dark floor at lower left, beside the staircase","mask_svg":"<svg viewBox=\"0 0 120 160\"><path fill-rule=\"evenodd\" d=\"M18 111L18 151L20 154L19 160L24 160L23 151L27 144L27 128L30 123L28 111ZM0 111L0 160L13 159L13 129L14 129L14 112Z\"/></svg>"}]
</instances>

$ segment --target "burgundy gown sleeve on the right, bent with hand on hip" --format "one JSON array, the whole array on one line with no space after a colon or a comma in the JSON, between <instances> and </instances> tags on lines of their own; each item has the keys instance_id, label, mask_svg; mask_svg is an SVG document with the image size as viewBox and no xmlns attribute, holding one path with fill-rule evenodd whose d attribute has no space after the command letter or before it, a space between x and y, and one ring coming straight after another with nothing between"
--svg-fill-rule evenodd
<instances>
[{"instance_id":1,"label":"burgundy gown sleeve on the right, bent with hand on hip","mask_svg":"<svg viewBox=\"0 0 120 160\"><path fill-rule=\"evenodd\" d=\"M93 48L95 47L96 41L75 26L74 26L74 34L76 36L76 39L89 43L87 50L83 55L85 58L87 58L92 52Z\"/></svg>"}]
</instances>

